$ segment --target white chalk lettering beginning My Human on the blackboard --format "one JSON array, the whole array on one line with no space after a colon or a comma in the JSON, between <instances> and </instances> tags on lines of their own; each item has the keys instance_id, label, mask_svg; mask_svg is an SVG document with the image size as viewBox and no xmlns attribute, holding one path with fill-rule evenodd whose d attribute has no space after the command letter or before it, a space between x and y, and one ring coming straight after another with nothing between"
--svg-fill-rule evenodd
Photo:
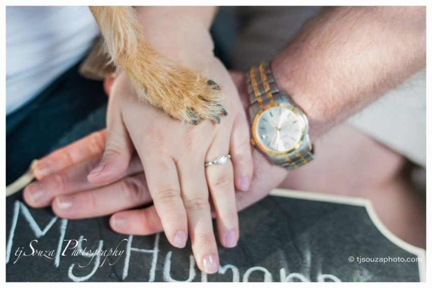
<instances>
[{"instance_id":1,"label":"white chalk lettering beginning My Human on the blackboard","mask_svg":"<svg viewBox=\"0 0 432 288\"><path fill-rule=\"evenodd\" d=\"M11 260L11 251L14 248L14 237L16 234L16 229L18 227L18 223L19 223L19 215L23 216L23 219L25 219L25 221L27 222L28 226L30 227L31 231L33 232L33 234L35 235L35 237L37 239L39 239L39 241L42 241L42 237L44 237L51 229L52 227L54 227L54 224L57 221L57 217L52 217L48 224L44 227L41 228L40 225L36 222L36 220L34 219L34 217L32 216L32 214L29 212L28 208L21 203L20 201L15 201L14 203L14 211L12 213L12 222L11 222L11 227L9 230L9 237L8 237L8 242L7 242L7 251L6 251L6 263L8 264ZM78 240L73 240L74 238L69 239L65 239L66 237L66 232L67 232L67 227L69 223L73 223L73 222L68 222L68 220L66 219L60 219L58 221L58 227L59 227L59 233L58 233L58 242L57 242L57 249L56 249L56 253L55 256L53 253L49 253L50 257L44 257L46 258L46 260L48 261L53 261L54 266L56 268L60 267L60 259L61 256L68 256L71 257L73 255L77 255L79 257L84 257L87 258L89 261L86 265L81 265L80 263L75 264L71 264L69 265L68 268L68 277L75 282L82 282L82 281L86 281L88 279L90 279L92 276L94 276L98 269L100 267L102 267L103 263L105 262L105 260L101 261L101 256L104 255L103 253L101 253L101 251L108 251L108 249L103 250L104 248L104 240L99 239L98 240L98 248L96 250L88 250L86 247L83 247L83 242L85 243L86 239L84 238L83 235L80 235ZM116 255L116 256L123 256L116 258L116 261L112 262L112 264L116 264L116 265L122 265L122 273L121 273L121 279L123 280L127 280L128 276L129 276L129 269L130 269L130 262L131 262L131 258L132 258L132 252L138 252L138 253L146 253L146 254L150 254L151 255L151 264L150 264L150 269L148 271L148 281L149 282L153 282L155 281L155 279L157 278L157 275L159 275L158 277L162 277L162 279L164 281L168 281L168 282L192 282L192 281L202 281L202 282L207 282L208 281L208 277L210 275L207 275L204 272L200 272L200 278L197 279L197 271L199 271L199 269L196 267L196 263L195 263L195 258L192 254L189 255L189 273L187 273L186 275L184 275L184 278L180 279L174 279L174 277L172 276L172 269L174 269L174 267L179 267L178 264L174 264L173 258L174 257L174 253L176 253L176 251L179 250L170 250L169 248L165 248L163 251L161 251L160 249L160 241L161 241L161 235L157 234L154 238L154 241L151 245L150 249L144 249L142 247L135 247L133 246L133 242L134 242L134 236L130 235L128 236L127 239L123 239L122 241L126 242L126 248L124 250L124 255L121 254L110 254L110 255ZM38 243L38 240L35 240L36 242L32 242L33 244ZM120 242L121 243L121 242ZM148 242L147 242L148 243ZM135 244L136 245L136 244ZM33 246L32 246L33 247ZM117 245L118 248L118 245ZM18 247L18 249L20 249ZM72 253L68 254L67 251L73 249ZM114 249L113 251L115 251L116 249ZM15 251L15 250L14 250ZM35 250L32 250L34 254L37 254ZM164 254L162 256L165 257L159 257L159 254ZM48 255L48 252L46 253ZM38 255L44 255L44 252L39 252ZM302 271L302 273L298 273L298 272L292 272L289 273L286 268L281 268L279 270L279 276L280 276L280 281L281 282L290 282L290 281L302 281L302 282L309 282L311 281L310 279L310 269L309 266L311 265L311 253L308 249L304 250L304 262L305 262L305 266L303 267L304 271ZM158 266L158 260L159 258L162 259L162 265ZM106 258L105 258L106 259ZM16 260L15 260L16 261ZM221 261L222 262L222 261ZM91 271L89 271L88 273L83 270L83 268L87 267L90 265L90 263L93 264L93 266L91 267ZM183 263L182 263L183 264ZM13 265L13 264L12 264ZM120 266L121 267L121 266ZM158 271L158 267L161 267L162 271ZM246 268L243 268L246 269ZM228 273L228 271L230 271L232 273L232 281L233 282L239 282L240 280L243 282L249 282L251 279L256 280L256 279L263 279L264 282L271 282L271 281L276 281L276 279L273 277L273 274L265 267L262 266L254 266L254 267L249 267L247 268L244 273L240 273L240 270L237 268L236 265L232 264L232 263L224 263L224 265L220 265L219 266L219 270L217 274L213 274L211 275L211 279L215 280L218 278L218 275L222 276L225 275L226 273ZM86 275L83 275L83 273L86 273ZM160 273L160 274L158 274ZM242 275L241 275L242 274ZM226 278L226 277L225 277ZM320 281L320 282L326 282L326 281L334 281L334 282L340 282L341 280L336 277L333 274L323 274L321 273L321 269L319 269L318 275L316 276L316 279L313 279L316 281Z\"/></svg>"}]
</instances>

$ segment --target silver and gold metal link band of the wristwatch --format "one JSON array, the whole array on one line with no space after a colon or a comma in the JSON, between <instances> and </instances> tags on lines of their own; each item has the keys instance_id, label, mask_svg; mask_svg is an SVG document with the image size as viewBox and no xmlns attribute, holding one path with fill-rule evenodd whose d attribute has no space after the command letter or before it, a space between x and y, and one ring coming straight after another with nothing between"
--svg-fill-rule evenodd
<instances>
[{"instance_id":1,"label":"silver and gold metal link band of the wristwatch","mask_svg":"<svg viewBox=\"0 0 432 288\"><path fill-rule=\"evenodd\" d=\"M261 63L259 67L252 67L249 73L246 74L246 83L251 103L250 116L252 121L255 114L269 103L286 102L294 106L288 96L277 88L268 62ZM312 151L311 141L306 134L301 146L294 152L284 156L267 155L276 165L295 169L314 159Z\"/></svg>"}]
</instances>

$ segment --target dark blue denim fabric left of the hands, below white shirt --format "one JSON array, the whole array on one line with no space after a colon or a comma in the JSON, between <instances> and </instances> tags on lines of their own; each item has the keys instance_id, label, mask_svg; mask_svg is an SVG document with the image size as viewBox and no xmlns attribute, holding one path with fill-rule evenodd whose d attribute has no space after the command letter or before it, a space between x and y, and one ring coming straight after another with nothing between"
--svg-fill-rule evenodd
<instances>
[{"instance_id":1,"label":"dark blue denim fabric left of the hands, below white shirt","mask_svg":"<svg viewBox=\"0 0 432 288\"><path fill-rule=\"evenodd\" d=\"M78 74L78 65L59 76L34 100L6 117L7 185L21 176L33 159L59 147L57 143L60 140L64 144L75 140L73 136L77 133L68 131L106 104L108 98L102 82L83 78ZM94 124L102 128L104 120ZM75 130L82 129L81 136L84 136L91 132L86 128L89 127L82 125Z\"/></svg>"}]
</instances>

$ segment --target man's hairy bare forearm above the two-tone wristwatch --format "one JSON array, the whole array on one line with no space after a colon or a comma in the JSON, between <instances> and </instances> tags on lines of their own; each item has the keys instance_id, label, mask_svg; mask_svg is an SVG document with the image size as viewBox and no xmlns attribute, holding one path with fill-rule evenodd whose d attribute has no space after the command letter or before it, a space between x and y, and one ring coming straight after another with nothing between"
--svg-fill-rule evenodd
<instances>
[{"instance_id":1,"label":"man's hairy bare forearm above the two-tone wristwatch","mask_svg":"<svg viewBox=\"0 0 432 288\"><path fill-rule=\"evenodd\" d=\"M327 8L272 61L316 138L426 64L424 7Z\"/></svg>"}]
</instances>

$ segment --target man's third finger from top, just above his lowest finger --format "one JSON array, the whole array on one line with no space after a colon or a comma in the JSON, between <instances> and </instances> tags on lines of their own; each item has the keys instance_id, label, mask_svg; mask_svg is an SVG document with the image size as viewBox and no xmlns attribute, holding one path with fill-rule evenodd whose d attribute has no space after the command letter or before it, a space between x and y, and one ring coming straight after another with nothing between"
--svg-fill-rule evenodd
<instances>
[{"instance_id":1,"label":"man's third finger from top, just above his lowest finger","mask_svg":"<svg viewBox=\"0 0 432 288\"><path fill-rule=\"evenodd\" d=\"M150 202L144 174L140 173L109 186L57 196L52 201L52 210L62 218L81 219L109 215Z\"/></svg>"}]
</instances>

